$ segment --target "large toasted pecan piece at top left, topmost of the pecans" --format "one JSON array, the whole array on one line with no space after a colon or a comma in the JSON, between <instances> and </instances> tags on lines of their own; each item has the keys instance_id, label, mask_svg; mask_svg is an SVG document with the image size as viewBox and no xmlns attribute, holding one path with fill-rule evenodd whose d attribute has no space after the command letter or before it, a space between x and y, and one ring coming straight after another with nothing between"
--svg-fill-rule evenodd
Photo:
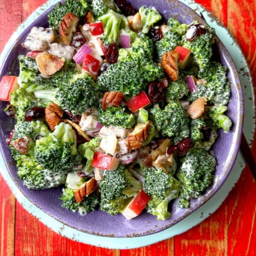
<instances>
[{"instance_id":1,"label":"large toasted pecan piece at top left, topmost of the pecans","mask_svg":"<svg viewBox=\"0 0 256 256\"><path fill-rule=\"evenodd\" d=\"M64 43L71 44L73 33L76 32L76 26L79 22L79 18L72 12L68 12L64 15L59 25L59 32Z\"/></svg>"}]
</instances>

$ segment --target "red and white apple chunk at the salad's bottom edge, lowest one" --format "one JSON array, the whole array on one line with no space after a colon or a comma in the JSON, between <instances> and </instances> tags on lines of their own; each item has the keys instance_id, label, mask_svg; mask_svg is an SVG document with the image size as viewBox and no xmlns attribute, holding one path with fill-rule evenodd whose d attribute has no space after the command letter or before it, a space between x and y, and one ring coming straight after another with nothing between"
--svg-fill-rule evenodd
<instances>
[{"instance_id":1,"label":"red and white apple chunk at the salad's bottom edge, lowest one","mask_svg":"<svg viewBox=\"0 0 256 256\"><path fill-rule=\"evenodd\" d=\"M140 192L131 200L131 202L125 207L122 211L122 215L125 216L126 219L130 220L132 218L137 217L143 211L150 200L150 196L144 192L144 190L140 190Z\"/></svg>"}]
</instances>

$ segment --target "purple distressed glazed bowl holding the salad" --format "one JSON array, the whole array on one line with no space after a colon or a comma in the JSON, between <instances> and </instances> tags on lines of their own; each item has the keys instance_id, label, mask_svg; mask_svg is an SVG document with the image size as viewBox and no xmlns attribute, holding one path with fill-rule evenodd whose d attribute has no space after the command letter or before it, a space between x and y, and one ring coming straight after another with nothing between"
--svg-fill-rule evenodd
<instances>
[{"instance_id":1,"label":"purple distressed glazed bowl holding the salad","mask_svg":"<svg viewBox=\"0 0 256 256\"><path fill-rule=\"evenodd\" d=\"M167 20L169 17L175 17L182 23L191 23L193 20L198 20L204 23L204 20L198 16L192 9L177 0L133 0L134 7L139 9L140 6L155 6L156 9ZM33 26L47 27L47 13L52 8L44 12L38 17L29 27L26 27L15 44L12 46L5 62L0 68L0 78L4 75L19 74L19 65L17 56L25 54L26 50L20 47ZM233 167L236 156L239 151L241 140L244 104L241 84L232 58L227 49L216 38L215 56L218 56L219 61L228 67L228 78L231 82L232 96L228 105L227 115L233 122L233 127L227 133L218 131L218 140L214 144L213 151L217 158L218 165L216 167L215 179L207 191L199 198L192 200L189 209L180 209L177 207L177 199L170 204L172 217L166 221L157 221L153 215L143 212L139 217L127 221L122 215L111 216L100 210L90 212L85 216L79 213L71 212L61 207L61 201L58 200L61 195L61 187L55 189L47 189L41 191L29 190L23 186L22 180L17 177L15 162L11 156L11 152L6 145L6 138L14 126L14 120L6 116L4 113L5 102L0 102L0 151L3 155L6 168L8 169L12 179L14 180L17 189L29 199L35 206L50 215L52 218L61 223L73 227L76 230L81 230L85 233L90 233L98 236L108 237L135 237L145 236L165 230L168 227L175 225L178 221L186 218L190 213L198 209L206 201L209 200L222 186L227 176Z\"/></svg>"}]
</instances>

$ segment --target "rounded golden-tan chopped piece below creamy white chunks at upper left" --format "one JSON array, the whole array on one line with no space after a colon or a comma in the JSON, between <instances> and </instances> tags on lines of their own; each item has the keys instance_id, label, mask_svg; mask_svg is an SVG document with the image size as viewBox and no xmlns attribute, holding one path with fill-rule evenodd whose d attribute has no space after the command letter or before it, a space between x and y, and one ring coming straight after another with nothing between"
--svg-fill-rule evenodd
<instances>
[{"instance_id":1,"label":"rounded golden-tan chopped piece below creamy white chunks at upper left","mask_svg":"<svg viewBox=\"0 0 256 256\"><path fill-rule=\"evenodd\" d=\"M56 73L58 70L63 67L65 63L65 59L49 54L48 52L39 53L36 58L36 64L38 66L38 70L42 75L50 76Z\"/></svg>"}]
</instances>

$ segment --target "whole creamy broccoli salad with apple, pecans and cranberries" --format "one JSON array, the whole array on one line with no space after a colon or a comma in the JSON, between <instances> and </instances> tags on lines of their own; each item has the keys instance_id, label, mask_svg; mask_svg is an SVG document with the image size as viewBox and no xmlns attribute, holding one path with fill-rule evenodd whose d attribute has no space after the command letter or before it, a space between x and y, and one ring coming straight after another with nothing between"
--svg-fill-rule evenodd
<instances>
[{"instance_id":1,"label":"whole creamy broccoli salad with apple, pecans and cranberries","mask_svg":"<svg viewBox=\"0 0 256 256\"><path fill-rule=\"evenodd\" d=\"M48 21L0 83L24 186L62 186L62 206L83 215L189 208L214 179L217 130L232 126L214 29L126 0L67 0Z\"/></svg>"}]
</instances>

